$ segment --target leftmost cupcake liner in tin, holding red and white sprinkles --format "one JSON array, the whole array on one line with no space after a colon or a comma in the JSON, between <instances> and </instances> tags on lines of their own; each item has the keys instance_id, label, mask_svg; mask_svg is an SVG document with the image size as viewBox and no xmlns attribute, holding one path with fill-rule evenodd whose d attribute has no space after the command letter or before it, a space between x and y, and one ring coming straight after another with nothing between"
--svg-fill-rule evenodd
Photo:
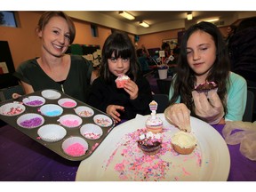
<instances>
[{"instance_id":1,"label":"leftmost cupcake liner in tin, holding red and white sprinkles","mask_svg":"<svg viewBox=\"0 0 256 192\"><path fill-rule=\"evenodd\" d=\"M4 116L18 116L25 109L25 106L20 103L6 103L0 107L0 114Z\"/></svg>"}]
</instances>

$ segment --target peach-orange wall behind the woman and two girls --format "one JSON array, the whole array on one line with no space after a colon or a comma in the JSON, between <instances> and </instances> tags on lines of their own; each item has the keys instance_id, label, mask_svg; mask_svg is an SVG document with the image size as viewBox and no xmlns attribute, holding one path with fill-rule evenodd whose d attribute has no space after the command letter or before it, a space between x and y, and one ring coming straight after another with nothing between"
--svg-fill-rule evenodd
<instances>
[{"instance_id":1,"label":"peach-orange wall behind the woman and two girls","mask_svg":"<svg viewBox=\"0 0 256 192\"><path fill-rule=\"evenodd\" d=\"M40 55L40 40L36 36L35 29L41 14L42 12L18 12L20 28L0 27L0 41L8 41L15 68L20 62ZM74 19L74 22L76 26L74 44L99 44L102 48L106 38L111 34L111 28L99 26L99 37L93 37L90 23L77 19ZM161 47L163 39L177 38L181 30L141 35L138 45L145 44L147 48ZM221 28L221 31L226 33L226 28ZM130 37L134 39L132 34Z\"/></svg>"}]
</instances>

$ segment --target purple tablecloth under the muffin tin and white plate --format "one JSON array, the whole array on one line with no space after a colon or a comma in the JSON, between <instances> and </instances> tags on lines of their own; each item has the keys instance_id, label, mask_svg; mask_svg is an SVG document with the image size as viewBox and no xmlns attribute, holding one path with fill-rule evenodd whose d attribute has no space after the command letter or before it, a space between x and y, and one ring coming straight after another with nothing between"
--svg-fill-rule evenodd
<instances>
[{"instance_id":1,"label":"purple tablecloth under the muffin tin and white plate","mask_svg":"<svg viewBox=\"0 0 256 192\"><path fill-rule=\"evenodd\" d=\"M221 134L223 125L214 128ZM242 156L239 145L228 145L228 149L228 180L256 181L256 162ZM10 125L0 127L0 180L74 181L79 164L58 156Z\"/></svg>"}]
</instances>

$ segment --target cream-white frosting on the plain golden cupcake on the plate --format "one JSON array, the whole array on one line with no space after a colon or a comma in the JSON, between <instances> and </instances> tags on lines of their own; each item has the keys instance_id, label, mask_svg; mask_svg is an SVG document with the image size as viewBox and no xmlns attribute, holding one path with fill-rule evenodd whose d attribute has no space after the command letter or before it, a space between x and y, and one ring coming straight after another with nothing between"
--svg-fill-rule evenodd
<instances>
[{"instance_id":1,"label":"cream-white frosting on the plain golden cupcake on the plate","mask_svg":"<svg viewBox=\"0 0 256 192\"><path fill-rule=\"evenodd\" d=\"M191 148L196 145L196 138L188 132L176 132L172 136L172 144L180 146L180 148Z\"/></svg>"}]
</instances>

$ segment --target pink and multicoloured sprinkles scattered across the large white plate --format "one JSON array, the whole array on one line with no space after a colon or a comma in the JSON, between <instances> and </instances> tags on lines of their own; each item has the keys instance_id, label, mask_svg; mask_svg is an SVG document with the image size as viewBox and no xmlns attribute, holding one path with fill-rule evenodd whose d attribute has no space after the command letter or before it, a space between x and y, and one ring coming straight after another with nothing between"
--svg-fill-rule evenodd
<instances>
[{"instance_id":1,"label":"pink and multicoloured sprinkles scattered across the large white plate","mask_svg":"<svg viewBox=\"0 0 256 192\"><path fill-rule=\"evenodd\" d=\"M195 168L191 167L195 166L199 175L202 156L197 148L192 154L182 156L172 149L170 137L163 132L162 148L156 155L148 156L137 146L137 140L145 132L147 129L143 128L125 134L102 168L116 172L119 180L193 180L191 169Z\"/></svg>"}]
</instances>

